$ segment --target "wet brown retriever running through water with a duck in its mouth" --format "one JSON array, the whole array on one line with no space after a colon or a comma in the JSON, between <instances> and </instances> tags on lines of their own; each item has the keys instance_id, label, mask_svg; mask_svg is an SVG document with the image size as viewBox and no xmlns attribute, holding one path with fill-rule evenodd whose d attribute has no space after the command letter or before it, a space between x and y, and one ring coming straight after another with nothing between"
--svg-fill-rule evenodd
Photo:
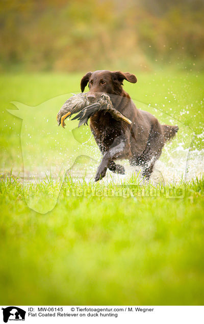
<instances>
[{"instance_id":1,"label":"wet brown retriever running through water with a duck in its mouth","mask_svg":"<svg viewBox=\"0 0 204 324\"><path fill-rule=\"evenodd\" d=\"M128 93L122 89L123 80L136 83L134 74L101 70L88 72L81 80L84 92L89 85L88 99L94 102L101 93L109 94L120 113L132 121L116 121L108 112L99 111L90 118L90 128L103 158L95 181L105 177L109 170L124 174L124 168L115 164L116 159L129 159L132 166L142 166L142 175L149 179L155 161L160 157L167 140L175 136L179 127L161 125L151 114L138 110Z\"/></svg>"}]
</instances>

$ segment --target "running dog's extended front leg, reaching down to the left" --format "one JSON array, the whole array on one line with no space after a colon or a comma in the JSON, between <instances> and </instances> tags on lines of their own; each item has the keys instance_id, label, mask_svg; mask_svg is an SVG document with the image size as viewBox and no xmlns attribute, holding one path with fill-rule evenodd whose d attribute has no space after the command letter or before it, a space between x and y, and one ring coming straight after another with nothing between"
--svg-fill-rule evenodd
<instances>
[{"instance_id":1,"label":"running dog's extended front leg, reaching down to the left","mask_svg":"<svg viewBox=\"0 0 204 324\"><path fill-rule=\"evenodd\" d=\"M104 154L95 175L95 181L105 177L108 165L113 157L117 158L125 149L125 136L117 137L109 150Z\"/></svg>"}]
</instances>

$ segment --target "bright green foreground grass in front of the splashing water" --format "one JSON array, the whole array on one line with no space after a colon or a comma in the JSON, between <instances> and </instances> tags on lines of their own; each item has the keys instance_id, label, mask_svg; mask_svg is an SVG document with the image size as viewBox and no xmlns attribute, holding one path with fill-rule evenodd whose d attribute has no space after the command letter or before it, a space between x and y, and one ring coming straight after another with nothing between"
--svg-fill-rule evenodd
<instances>
[{"instance_id":1,"label":"bright green foreground grass in front of the splashing water","mask_svg":"<svg viewBox=\"0 0 204 324\"><path fill-rule=\"evenodd\" d=\"M28 184L25 191L39 197L56 185ZM1 302L201 305L203 186L203 179L189 183L186 197L173 200L68 197L67 188L79 187L68 178L55 209L42 216L26 206L18 180L7 178Z\"/></svg>"}]
</instances>

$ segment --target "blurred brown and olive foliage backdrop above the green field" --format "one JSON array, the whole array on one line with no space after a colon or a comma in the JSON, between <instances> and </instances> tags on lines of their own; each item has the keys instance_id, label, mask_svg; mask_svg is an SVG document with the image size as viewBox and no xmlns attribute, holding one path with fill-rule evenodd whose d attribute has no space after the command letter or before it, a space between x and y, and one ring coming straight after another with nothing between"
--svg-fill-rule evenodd
<instances>
[{"instance_id":1,"label":"blurred brown and olive foliage backdrop above the green field","mask_svg":"<svg viewBox=\"0 0 204 324\"><path fill-rule=\"evenodd\" d=\"M199 69L203 0L8 0L0 3L0 69Z\"/></svg>"}]
</instances>

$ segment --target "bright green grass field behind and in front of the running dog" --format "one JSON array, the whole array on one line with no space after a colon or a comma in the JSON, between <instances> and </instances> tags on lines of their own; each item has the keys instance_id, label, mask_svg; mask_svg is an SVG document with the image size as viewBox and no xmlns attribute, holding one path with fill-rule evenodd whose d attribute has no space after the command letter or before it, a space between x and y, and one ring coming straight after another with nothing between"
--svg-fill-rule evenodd
<instances>
[{"instance_id":1,"label":"bright green grass field behind and in front of the running dog","mask_svg":"<svg viewBox=\"0 0 204 324\"><path fill-rule=\"evenodd\" d=\"M161 70L136 75L138 84L126 83L125 90L133 99L157 107L190 127L198 134L191 145L199 153L204 146L200 136L204 130L204 74ZM80 92L81 76L0 76L0 170L14 174L3 175L0 182L1 304L203 305L203 176L181 180L185 185L182 199L70 197L67 193L72 188L106 190L115 184L94 184L92 179L67 176L52 211L40 214L28 207L26 195L43 208L44 199L52 197L61 183L50 176L46 181L28 181L23 187L18 173L33 164L41 170L42 160L48 167L53 156L55 167L64 154L67 158L74 155L76 146L68 141L68 151L60 152L54 133L48 140L44 136L47 126L41 112L36 111L42 131L34 127L33 142L27 147L25 141L21 148L24 124L6 109L15 109L11 101L38 106L58 97L59 106L55 100L45 105L47 118L56 123L64 95ZM68 136L69 124L62 135L57 134L59 142ZM85 136L90 136L88 128ZM91 145L91 150L97 151L94 142ZM29 152L29 158L22 150ZM137 176L120 182L122 188L130 183L138 184ZM163 184L159 186L164 189Z\"/></svg>"}]
</instances>

